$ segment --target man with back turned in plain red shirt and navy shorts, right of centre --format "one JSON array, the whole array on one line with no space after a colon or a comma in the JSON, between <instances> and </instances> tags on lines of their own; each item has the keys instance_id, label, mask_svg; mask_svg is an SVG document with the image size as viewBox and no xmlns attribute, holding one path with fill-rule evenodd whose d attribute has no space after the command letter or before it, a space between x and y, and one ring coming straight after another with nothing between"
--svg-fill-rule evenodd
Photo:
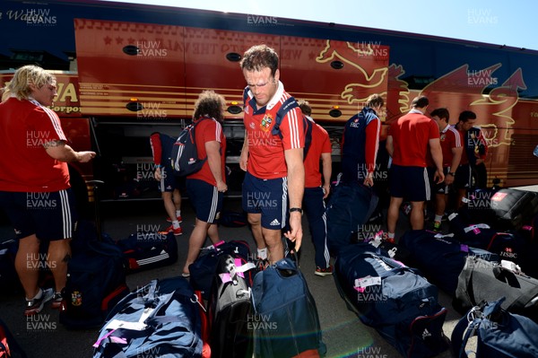
<instances>
[{"instance_id":1,"label":"man with back turned in plain red shirt and navy shorts, right of centre","mask_svg":"<svg viewBox=\"0 0 538 358\"><path fill-rule=\"evenodd\" d=\"M430 182L426 170L429 146L436 167L434 179L437 183L445 180L439 128L432 119L424 116L429 104L425 96L412 100L412 109L391 124L386 137L386 150L392 156L390 205L386 219L389 240L395 239L396 223L404 198L411 201L412 230L424 228L424 202L430 200Z\"/></svg>"}]
</instances>

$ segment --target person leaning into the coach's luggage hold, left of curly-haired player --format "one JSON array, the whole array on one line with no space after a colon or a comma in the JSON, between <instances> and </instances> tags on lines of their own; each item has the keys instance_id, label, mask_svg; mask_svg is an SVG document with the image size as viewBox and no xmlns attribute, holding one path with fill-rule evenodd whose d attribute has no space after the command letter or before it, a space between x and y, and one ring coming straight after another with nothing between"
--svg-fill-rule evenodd
<instances>
[{"instance_id":1,"label":"person leaning into the coach's luggage hold, left of curly-haired player","mask_svg":"<svg viewBox=\"0 0 538 358\"><path fill-rule=\"evenodd\" d=\"M179 236L183 234L179 225L182 222L180 182L179 178L173 174L174 171L170 164L170 153L175 142L176 140L169 135L163 135L159 132L150 135L153 162L155 163L155 179L159 180L164 209L171 222L167 231L172 231L175 236Z\"/></svg>"}]
</instances>

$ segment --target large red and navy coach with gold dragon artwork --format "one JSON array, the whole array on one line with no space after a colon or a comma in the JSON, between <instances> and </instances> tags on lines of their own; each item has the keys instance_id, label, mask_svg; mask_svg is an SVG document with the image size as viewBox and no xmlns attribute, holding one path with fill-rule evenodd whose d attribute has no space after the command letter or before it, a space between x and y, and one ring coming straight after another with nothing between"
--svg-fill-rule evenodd
<instances>
[{"instance_id":1,"label":"large red and navy coach with gold dragon artwork","mask_svg":"<svg viewBox=\"0 0 538 358\"><path fill-rule=\"evenodd\" d=\"M238 195L246 85L239 60L258 43L276 49L286 91L308 100L330 133L334 172L343 124L369 94L385 97L384 124L425 94L429 109L449 109L452 124L462 110L477 114L490 147L490 185L493 179L504 187L538 184L538 51L142 4L7 0L2 13L0 31L9 34L0 44L3 82L29 63L62 70L54 109L75 149L100 154L72 168L81 197L91 197L84 182L93 178L105 180L109 199L157 197L148 137L178 135L205 89L221 93L229 106L230 196Z\"/></svg>"}]
</instances>

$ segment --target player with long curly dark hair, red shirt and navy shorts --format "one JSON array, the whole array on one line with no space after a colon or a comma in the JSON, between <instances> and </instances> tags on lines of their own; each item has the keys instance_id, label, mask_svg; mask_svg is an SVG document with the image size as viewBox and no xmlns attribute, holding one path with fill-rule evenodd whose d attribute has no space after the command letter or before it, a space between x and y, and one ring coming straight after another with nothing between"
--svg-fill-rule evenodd
<instances>
[{"instance_id":1,"label":"player with long curly dark hair, red shirt and navy shorts","mask_svg":"<svg viewBox=\"0 0 538 358\"><path fill-rule=\"evenodd\" d=\"M187 261L183 276L190 275L188 266L195 262L208 236L213 244L219 242L216 221L222 209L224 193L228 190L225 176L226 137L221 121L226 101L213 91L204 91L195 102L193 121L196 127L195 144L199 158L207 158L202 169L187 175L187 195L195 208L196 223L188 242Z\"/></svg>"}]
</instances>

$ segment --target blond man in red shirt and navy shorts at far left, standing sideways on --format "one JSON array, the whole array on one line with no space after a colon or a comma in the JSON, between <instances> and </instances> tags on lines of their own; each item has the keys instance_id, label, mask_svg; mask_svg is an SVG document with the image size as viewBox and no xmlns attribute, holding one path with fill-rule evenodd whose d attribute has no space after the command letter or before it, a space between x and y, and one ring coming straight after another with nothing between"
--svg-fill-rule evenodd
<instances>
[{"instance_id":1,"label":"blond man in red shirt and navy shorts at far left, standing sideways on","mask_svg":"<svg viewBox=\"0 0 538 358\"><path fill-rule=\"evenodd\" d=\"M55 96L56 78L39 66L25 65L13 74L0 104L0 207L19 240L15 268L26 293L27 316L50 300L53 308L60 307L76 223L66 162L95 157L66 144L60 119L45 107ZM47 261L56 293L38 286L40 241L49 243Z\"/></svg>"}]
</instances>

